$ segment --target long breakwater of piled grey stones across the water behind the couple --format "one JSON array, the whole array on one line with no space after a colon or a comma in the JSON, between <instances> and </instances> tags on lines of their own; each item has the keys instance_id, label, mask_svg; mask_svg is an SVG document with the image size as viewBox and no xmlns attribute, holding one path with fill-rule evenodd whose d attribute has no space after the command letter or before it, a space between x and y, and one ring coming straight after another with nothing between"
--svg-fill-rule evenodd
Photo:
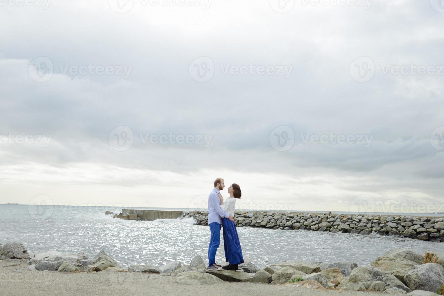
<instances>
[{"instance_id":1,"label":"long breakwater of piled grey stones across the water behind the couple","mask_svg":"<svg viewBox=\"0 0 444 296\"><path fill-rule=\"evenodd\" d=\"M184 212L196 225L208 225L208 211ZM236 226L311 230L352 234L398 235L424 241L444 241L444 218L354 214L235 212Z\"/></svg>"}]
</instances>

